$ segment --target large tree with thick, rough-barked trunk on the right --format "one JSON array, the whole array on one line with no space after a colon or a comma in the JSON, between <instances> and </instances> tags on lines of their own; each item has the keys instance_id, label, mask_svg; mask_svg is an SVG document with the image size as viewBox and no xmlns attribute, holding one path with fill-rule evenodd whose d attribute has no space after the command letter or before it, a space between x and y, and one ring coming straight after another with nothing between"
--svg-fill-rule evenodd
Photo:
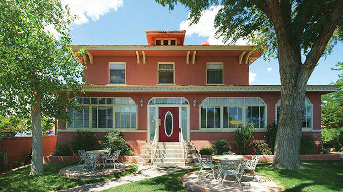
<instances>
[{"instance_id":1,"label":"large tree with thick, rough-barked trunk on the right","mask_svg":"<svg viewBox=\"0 0 343 192\"><path fill-rule=\"evenodd\" d=\"M266 57L277 57L281 107L272 168L300 169L300 138L306 84L323 54L330 53L343 31L341 0L156 0L173 10L177 3L190 9L191 24L203 10L221 6L214 21L216 36L235 43L249 39ZM331 39L331 41L330 41ZM270 46L268 46L270 45ZM328 46L327 46L328 45ZM325 50L325 48L327 49ZM326 52L325 52L326 51ZM306 58L302 60L302 54ZM324 54L324 55L325 55ZM283 146L290 146L284 148Z\"/></svg>"}]
</instances>

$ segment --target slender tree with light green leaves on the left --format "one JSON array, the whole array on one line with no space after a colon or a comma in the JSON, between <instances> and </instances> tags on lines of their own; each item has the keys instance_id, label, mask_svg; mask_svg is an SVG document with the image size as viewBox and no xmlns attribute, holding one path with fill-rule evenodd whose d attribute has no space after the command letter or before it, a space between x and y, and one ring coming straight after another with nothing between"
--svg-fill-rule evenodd
<instances>
[{"instance_id":1,"label":"slender tree with light green leaves on the left","mask_svg":"<svg viewBox=\"0 0 343 192\"><path fill-rule=\"evenodd\" d=\"M0 112L19 118L31 113L30 174L43 173L41 115L70 121L65 108L82 108L70 99L82 93L84 80L70 44L75 17L59 0L0 0L0 18Z\"/></svg>"}]
</instances>

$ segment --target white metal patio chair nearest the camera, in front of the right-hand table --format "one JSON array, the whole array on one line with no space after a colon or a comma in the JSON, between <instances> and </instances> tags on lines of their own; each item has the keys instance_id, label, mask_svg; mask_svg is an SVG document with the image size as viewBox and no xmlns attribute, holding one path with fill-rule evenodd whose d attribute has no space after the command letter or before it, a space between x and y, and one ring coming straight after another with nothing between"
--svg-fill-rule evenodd
<instances>
[{"instance_id":1,"label":"white metal patio chair nearest the camera, in front of the right-hand table","mask_svg":"<svg viewBox=\"0 0 343 192\"><path fill-rule=\"evenodd\" d=\"M221 178L221 180L222 180L221 188L224 185L226 175L234 175L236 177L238 183L240 184L240 188L242 190L241 180L237 176L238 174L240 174L240 166L241 166L241 161L238 161L238 160L221 161L219 163L221 174L224 175L224 177ZM218 177L219 177L219 175L218 175Z\"/></svg>"}]
</instances>

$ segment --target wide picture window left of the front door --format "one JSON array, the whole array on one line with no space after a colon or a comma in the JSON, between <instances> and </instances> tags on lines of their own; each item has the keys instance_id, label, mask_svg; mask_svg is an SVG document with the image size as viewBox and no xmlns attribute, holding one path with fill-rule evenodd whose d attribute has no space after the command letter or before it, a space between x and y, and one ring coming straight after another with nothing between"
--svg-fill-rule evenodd
<instances>
[{"instance_id":1,"label":"wide picture window left of the front door","mask_svg":"<svg viewBox=\"0 0 343 192\"><path fill-rule=\"evenodd\" d=\"M86 109L68 110L68 128L137 128L137 105L131 98L77 98Z\"/></svg>"}]
</instances>

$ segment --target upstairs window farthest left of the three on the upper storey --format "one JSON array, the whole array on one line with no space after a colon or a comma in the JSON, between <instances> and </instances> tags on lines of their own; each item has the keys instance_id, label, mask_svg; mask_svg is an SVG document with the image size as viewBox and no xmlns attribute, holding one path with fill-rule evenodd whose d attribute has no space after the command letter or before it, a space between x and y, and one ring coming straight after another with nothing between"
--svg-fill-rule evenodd
<instances>
[{"instance_id":1,"label":"upstairs window farthest left of the three on the upper storey","mask_svg":"<svg viewBox=\"0 0 343 192\"><path fill-rule=\"evenodd\" d=\"M109 63L109 83L126 84L126 64L118 62Z\"/></svg>"}]
</instances>

